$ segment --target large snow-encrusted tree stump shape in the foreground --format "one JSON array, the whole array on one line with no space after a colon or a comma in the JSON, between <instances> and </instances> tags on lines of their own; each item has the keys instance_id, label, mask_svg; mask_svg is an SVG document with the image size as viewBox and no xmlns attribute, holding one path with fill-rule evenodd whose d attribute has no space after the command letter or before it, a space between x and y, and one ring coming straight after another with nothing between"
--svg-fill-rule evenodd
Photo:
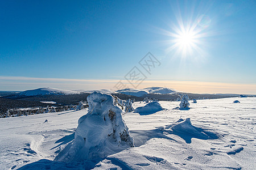
<instances>
[{"instance_id":1,"label":"large snow-encrusted tree stump shape in the foreground","mask_svg":"<svg viewBox=\"0 0 256 170\"><path fill-rule=\"evenodd\" d=\"M105 158L134 147L134 140L122 118L122 110L114 105L111 95L93 92L87 101L89 110L79 119L73 144L55 160L72 162Z\"/></svg>"}]
</instances>

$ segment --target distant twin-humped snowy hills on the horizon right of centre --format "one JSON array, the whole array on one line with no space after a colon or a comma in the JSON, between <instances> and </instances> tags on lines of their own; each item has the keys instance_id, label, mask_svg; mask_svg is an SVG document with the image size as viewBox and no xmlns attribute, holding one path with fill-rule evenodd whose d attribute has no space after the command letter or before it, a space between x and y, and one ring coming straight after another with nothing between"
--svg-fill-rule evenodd
<instances>
[{"instance_id":1,"label":"distant twin-humped snowy hills on the horizon right of centre","mask_svg":"<svg viewBox=\"0 0 256 170\"><path fill-rule=\"evenodd\" d=\"M137 97L142 97L147 94L176 94L177 91L173 88L166 88L166 87L148 87L143 89L134 89L134 88L125 88L123 90L117 90L121 94L125 95L132 95Z\"/></svg>"}]
</instances>

